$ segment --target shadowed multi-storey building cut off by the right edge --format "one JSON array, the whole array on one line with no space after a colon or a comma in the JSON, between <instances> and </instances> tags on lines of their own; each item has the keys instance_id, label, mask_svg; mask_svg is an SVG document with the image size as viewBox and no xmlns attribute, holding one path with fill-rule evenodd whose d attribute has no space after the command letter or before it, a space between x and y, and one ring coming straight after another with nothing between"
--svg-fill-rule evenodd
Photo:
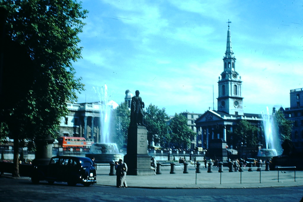
<instances>
[{"instance_id":1,"label":"shadowed multi-storey building cut off by the right edge","mask_svg":"<svg viewBox=\"0 0 303 202\"><path fill-rule=\"evenodd\" d=\"M303 152L303 88L290 90L290 108L285 108L284 113L294 121L291 141L298 152Z\"/></svg>"}]
</instances>

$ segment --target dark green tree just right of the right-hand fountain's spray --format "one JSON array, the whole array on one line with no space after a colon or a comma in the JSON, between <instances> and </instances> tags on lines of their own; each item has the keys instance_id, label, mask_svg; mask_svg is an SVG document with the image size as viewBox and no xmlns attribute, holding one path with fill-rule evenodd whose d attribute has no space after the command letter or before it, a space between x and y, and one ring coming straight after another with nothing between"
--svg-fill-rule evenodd
<instances>
[{"instance_id":1,"label":"dark green tree just right of the right-hand fountain's spray","mask_svg":"<svg viewBox=\"0 0 303 202\"><path fill-rule=\"evenodd\" d=\"M285 118L285 115L281 111L281 109L276 111L275 117L276 117L278 129L279 129L281 142L283 142L284 140L290 140L292 127L293 127L293 121L287 120Z\"/></svg>"}]
</instances>

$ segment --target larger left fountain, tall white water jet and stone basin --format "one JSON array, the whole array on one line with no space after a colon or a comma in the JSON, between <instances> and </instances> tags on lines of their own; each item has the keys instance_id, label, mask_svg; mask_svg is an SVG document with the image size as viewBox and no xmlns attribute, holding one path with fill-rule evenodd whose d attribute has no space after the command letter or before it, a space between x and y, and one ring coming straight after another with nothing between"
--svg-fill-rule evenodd
<instances>
[{"instance_id":1,"label":"larger left fountain, tall white water jet and stone basin","mask_svg":"<svg viewBox=\"0 0 303 202\"><path fill-rule=\"evenodd\" d=\"M94 88L98 94L100 103L100 125L101 132L99 133L98 142L93 144L86 157L95 158L95 163L110 163L113 159L123 159L123 154L119 153L116 143L111 143L110 136L110 119L112 110L116 107L113 106L111 101L108 101L107 86L105 84L104 91L101 93L98 89Z\"/></svg>"}]
</instances>

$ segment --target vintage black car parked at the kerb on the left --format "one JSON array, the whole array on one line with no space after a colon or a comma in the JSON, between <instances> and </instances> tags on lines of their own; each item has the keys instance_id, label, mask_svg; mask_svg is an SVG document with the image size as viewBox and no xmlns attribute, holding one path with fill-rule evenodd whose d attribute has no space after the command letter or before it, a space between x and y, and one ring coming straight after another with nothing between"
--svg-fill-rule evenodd
<instances>
[{"instance_id":1,"label":"vintage black car parked at the kerb on the left","mask_svg":"<svg viewBox=\"0 0 303 202\"><path fill-rule=\"evenodd\" d=\"M87 157L52 157L48 165L34 166L31 177L33 183L39 183L40 180L46 180L49 184L67 182L70 186L78 183L90 186L97 183L96 169L92 160Z\"/></svg>"}]
</instances>

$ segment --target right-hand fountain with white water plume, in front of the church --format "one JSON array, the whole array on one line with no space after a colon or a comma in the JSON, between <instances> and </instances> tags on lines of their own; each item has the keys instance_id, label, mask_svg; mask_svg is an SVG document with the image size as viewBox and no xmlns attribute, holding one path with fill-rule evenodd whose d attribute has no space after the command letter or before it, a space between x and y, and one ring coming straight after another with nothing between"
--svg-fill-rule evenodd
<instances>
[{"instance_id":1,"label":"right-hand fountain with white water plume, in front of the church","mask_svg":"<svg viewBox=\"0 0 303 202\"><path fill-rule=\"evenodd\" d=\"M266 113L262 112L263 128L265 134L265 149L258 151L258 158L268 159L282 154L281 140L279 138L278 126L275 118L275 108L269 114L268 107Z\"/></svg>"}]
</instances>

